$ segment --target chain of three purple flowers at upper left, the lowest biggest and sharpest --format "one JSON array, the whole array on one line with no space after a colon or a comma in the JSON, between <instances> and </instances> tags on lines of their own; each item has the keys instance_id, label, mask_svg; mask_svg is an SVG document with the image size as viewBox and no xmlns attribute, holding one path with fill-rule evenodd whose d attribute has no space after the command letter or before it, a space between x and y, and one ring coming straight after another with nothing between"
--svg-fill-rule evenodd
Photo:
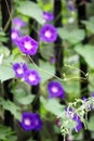
<instances>
[{"instance_id":1,"label":"chain of three purple flowers at upper left, the lowest biggest and sharpest","mask_svg":"<svg viewBox=\"0 0 94 141\"><path fill-rule=\"evenodd\" d=\"M26 23L19 17L15 17L13 20L13 25L15 25L15 28L13 28L11 33L12 41L23 53L27 55L35 55L39 47L38 42L28 35L21 37L19 29L21 27L26 26Z\"/></svg>"}]
</instances>

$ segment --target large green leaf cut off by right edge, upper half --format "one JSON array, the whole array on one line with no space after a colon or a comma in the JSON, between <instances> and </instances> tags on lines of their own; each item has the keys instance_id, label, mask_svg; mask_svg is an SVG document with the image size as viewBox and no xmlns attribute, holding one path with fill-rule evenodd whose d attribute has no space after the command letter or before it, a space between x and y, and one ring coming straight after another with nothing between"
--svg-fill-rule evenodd
<instances>
[{"instance_id":1,"label":"large green leaf cut off by right edge, upper half","mask_svg":"<svg viewBox=\"0 0 94 141\"><path fill-rule=\"evenodd\" d=\"M85 62L90 67L94 68L94 47L86 44L78 44L75 50L84 57Z\"/></svg>"}]
</instances>

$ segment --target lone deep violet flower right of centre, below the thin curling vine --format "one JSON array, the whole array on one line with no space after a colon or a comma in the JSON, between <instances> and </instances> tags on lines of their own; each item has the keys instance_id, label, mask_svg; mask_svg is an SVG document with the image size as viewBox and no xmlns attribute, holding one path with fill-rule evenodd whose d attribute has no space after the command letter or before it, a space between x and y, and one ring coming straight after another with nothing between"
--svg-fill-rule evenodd
<instances>
[{"instance_id":1,"label":"lone deep violet flower right of centre, below the thin curling vine","mask_svg":"<svg viewBox=\"0 0 94 141\"><path fill-rule=\"evenodd\" d=\"M49 98L65 99L65 91L58 81L51 81L48 84Z\"/></svg>"}]
</instances>

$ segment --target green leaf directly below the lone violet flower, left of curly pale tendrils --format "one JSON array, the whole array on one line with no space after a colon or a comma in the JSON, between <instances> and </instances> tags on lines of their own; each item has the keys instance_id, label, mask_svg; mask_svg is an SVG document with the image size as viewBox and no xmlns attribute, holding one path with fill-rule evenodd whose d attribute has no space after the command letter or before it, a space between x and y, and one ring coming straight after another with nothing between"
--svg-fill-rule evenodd
<instances>
[{"instance_id":1,"label":"green leaf directly below the lone violet flower, left of curly pale tendrils","mask_svg":"<svg viewBox=\"0 0 94 141\"><path fill-rule=\"evenodd\" d=\"M61 105L57 100L51 99L49 101L44 100L44 98L40 98L41 103L43 104L44 108L52 114L58 116L63 113L65 106Z\"/></svg>"}]
</instances>

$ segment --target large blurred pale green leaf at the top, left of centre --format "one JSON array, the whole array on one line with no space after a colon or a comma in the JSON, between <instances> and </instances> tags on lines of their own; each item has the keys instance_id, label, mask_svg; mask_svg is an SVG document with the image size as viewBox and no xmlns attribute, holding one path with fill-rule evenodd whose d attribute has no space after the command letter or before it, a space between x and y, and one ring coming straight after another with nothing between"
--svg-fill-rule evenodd
<instances>
[{"instance_id":1,"label":"large blurred pale green leaf at the top, left of centre","mask_svg":"<svg viewBox=\"0 0 94 141\"><path fill-rule=\"evenodd\" d=\"M26 16L35 18L40 24L43 24L42 10L35 2L25 1L24 4L19 5L18 12Z\"/></svg>"}]
</instances>

